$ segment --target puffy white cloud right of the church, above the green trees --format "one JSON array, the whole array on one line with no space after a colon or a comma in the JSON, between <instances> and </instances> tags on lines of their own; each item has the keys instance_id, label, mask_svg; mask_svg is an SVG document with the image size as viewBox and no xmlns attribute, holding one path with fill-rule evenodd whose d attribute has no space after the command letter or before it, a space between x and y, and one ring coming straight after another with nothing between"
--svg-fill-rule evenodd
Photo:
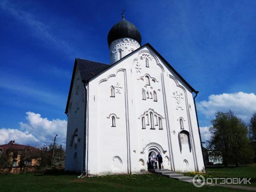
<instances>
[{"instance_id":1,"label":"puffy white cloud right of the church, above the green trees","mask_svg":"<svg viewBox=\"0 0 256 192\"><path fill-rule=\"evenodd\" d=\"M214 118L214 113L217 111L227 112L231 110L237 117L248 122L256 111L256 95L243 92L210 95L208 101L199 102L197 108L208 119Z\"/></svg>"}]
</instances>

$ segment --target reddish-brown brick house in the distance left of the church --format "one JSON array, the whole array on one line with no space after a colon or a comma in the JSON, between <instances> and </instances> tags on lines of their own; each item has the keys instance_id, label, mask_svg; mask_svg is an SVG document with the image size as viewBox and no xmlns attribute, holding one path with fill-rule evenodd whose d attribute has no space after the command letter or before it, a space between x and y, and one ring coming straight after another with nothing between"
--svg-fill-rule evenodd
<instances>
[{"instance_id":1,"label":"reddish-brown brick house in the distance left of the church","mask_svg":"<svg viewBox=\"0 0 256 192\"><path fill-rule=\"evenodd\" d=\"M7 144L0 145L0 157L7 157L7 159L0 158L1 167L17 167L22 160L25 166L35 166L38 163L38 158L32 158L32 153L38 150L29 145L16 144L15 141L10 141Z\"/></svg>"}]
</instances>

